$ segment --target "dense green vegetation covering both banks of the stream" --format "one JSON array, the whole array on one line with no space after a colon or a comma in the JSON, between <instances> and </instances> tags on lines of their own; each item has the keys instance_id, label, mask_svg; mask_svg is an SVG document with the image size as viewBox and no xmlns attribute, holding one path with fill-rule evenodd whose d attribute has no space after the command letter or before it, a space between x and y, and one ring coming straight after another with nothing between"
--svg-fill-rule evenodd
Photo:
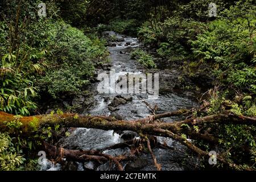
<instances>
[{"instance_id":1,"label":"dense green vegetation covering both banks of the stream","mask_svg":"<svg viewBox=\"0 0 256 182\"><path fill-rule=\"evenodd\" d=\"M73 97L86 90L94 69L108 62L101 32L113 30L137 35L167 64L180 65L184 77L196 80L207 72L206 80L214 78L207 88L210 109L195 116L226 112L256 116L253 0L216 0L217 17L209 17L208 0L47 0L45 17L38 16L40 2L0 2L0 111L32 115L44 97L57 100L63 94ZM146 51L137 49L131 56L144 67L156 67ZM9 127L9 133L0 133L0 169L6 170L34 169L36 163L27 159L28 154L39 140L51 140L59 129L36 131L35 141L20 138L18 119ZM210 133L217 133L226 159L254 167L254 126L212 124L202 130L209 128ZM196 144L210 149L209 143Z\"/></svg>"}]
</instances>

